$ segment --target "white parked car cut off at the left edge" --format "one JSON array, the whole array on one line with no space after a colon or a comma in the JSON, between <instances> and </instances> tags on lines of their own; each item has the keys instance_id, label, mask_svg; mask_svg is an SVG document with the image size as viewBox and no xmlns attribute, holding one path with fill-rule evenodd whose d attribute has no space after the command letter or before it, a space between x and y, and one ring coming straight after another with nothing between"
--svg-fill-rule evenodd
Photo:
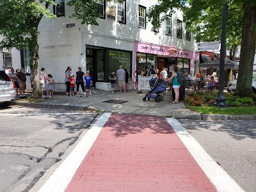
<instances>
[{"instance_id":1,"label":"white parked car cut off at the left edge","mask_svg":"<svg viewBox=\"0 0 256 192\"><path fill-rule=\"evenodd\" d=\"M10 101L14 100L15 97L15 83L4 71L0 71L0 107L10 106Z\"/></svg>"}]
</instances>

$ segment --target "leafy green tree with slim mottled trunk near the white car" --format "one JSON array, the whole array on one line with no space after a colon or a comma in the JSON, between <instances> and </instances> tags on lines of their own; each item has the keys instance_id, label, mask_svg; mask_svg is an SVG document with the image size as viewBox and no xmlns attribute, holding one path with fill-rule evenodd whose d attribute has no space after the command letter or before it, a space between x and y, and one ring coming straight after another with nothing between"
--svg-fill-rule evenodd
<instances>
[{"instance_id":1,"label":"leafy green tree with slim mottled trunk near the white car","mask_svg":"<svg viewBox=\"0 0 256 192\"><path fill-rule=\"evenodd\" d=\"M1 46L17 49L29 48L30 65L33 73L33 97L40 97L38 25L42 17L53 19L48 7L57 5L55 0L8 0L0 1L0 35L4 36ZM72 0L75 6L72 17L82 19L82 24L97 24L96 3L93 0Z\"/></svg>"}]
</instances>

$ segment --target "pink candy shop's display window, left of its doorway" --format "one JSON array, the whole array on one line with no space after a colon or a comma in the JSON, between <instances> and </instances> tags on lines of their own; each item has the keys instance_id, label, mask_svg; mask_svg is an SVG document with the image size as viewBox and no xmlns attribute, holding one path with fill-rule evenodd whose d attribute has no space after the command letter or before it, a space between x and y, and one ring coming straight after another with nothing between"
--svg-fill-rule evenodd
<instances>
[{"instance_id":1,"label":"pink candy shop's display window, left of its doorway","mask_svg":"<svg viewBox=\"0 0 256 192\"><path fill-rule=\"evenodd\" d=\"M152 65L156 67L156 55L143 53L137 54L137 69L140 67L141 70L147 74Z\"/></svg>"}]
</instances>

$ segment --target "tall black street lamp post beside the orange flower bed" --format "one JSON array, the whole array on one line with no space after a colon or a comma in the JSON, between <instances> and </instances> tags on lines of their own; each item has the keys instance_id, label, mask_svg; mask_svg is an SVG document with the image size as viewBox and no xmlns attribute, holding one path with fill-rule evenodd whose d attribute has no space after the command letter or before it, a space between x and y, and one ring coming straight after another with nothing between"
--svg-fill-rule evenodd
<instances>
[{"instance_id":1,"label":"tall black street lamp post beside the orange flower bed","mask_svg":"<svg viewBox=\"0 0 256 192\"><path fill-rule=\"evenodd\" d=\"M226 58L226 33L227 33L227 0L223 0L223 15L222 15L222 27L221 27L221 48L220 48L220 76L219 76L219 91L215 103L215 106L219 108L227 108L224 96L224 67Z\"/></svg>"}]
</instances>

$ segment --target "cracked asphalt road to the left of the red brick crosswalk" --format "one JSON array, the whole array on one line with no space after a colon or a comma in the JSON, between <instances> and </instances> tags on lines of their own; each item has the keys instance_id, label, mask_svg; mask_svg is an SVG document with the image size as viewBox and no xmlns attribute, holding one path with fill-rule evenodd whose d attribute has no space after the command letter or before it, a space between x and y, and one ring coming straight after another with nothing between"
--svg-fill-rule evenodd
<instances>
[{"instance_id":1,"label":"cracked asphalt road to the left of the red brick crosswalk","mask_svg":"<svg viewBox=\"0 0 256 192\"><path fill-rule=\"evenodd\" d=\"M54 172L97 116L65 109L0 109L0 191L37 191L38 182Z\"/></svg>"}]
</instances>

